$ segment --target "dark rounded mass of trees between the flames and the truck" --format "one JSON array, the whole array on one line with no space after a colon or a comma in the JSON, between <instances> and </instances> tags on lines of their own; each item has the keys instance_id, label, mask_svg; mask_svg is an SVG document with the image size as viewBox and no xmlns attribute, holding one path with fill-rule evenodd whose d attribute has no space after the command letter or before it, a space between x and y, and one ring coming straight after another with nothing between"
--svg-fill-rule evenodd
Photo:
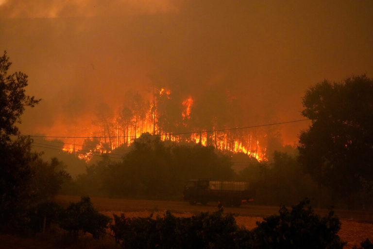
<instances>
[{"instance_id":1,"label":"dark rounded mass of trees between the flames and the truck","mask_svg":"<svg viewBox=\"0 0 373 249\"><path fill-rule=\"evenodd\" d=\"M181 198L190 178L233 178L229 157L200 144L168 144L144 134L121 162L104 159L77 178L86 194L117 197Z\"/></svg>"}]
</instances>

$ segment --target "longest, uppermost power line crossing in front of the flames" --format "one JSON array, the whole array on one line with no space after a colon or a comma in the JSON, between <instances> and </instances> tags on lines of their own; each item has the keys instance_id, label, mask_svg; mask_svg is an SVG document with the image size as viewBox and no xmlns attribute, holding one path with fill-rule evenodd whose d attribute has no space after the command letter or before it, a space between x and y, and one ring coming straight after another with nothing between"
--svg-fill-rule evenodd
<instances>
[{"instance_id":1,"label":"longest, uppermost power line crossing in front of the flames","mask_svg":"<svg viewBox=\"0 0 373 249\"><path fill-rule=\"evenodd\" d=\"M166 133L170 136L175 135L186 135L186 134L195 134L195 133L208 133L208 132L217 132L217 131L229 131L229 130L240 130L240 129L250 129L250 128L257 128L257 127L264 127L264 126L271 126L271 125L284 125L284 124L291 124L291 123L297 123L297 122L303 122L308 121L310 119L301 119L301 120L293 120L293 121L287 121L287 122L279 122L279 123L271 123L271 124L265 124L265 125L251 125L251 126L243 126L243 127L236 127L236 128L225 128L225 129L214 129L214 130L204 130L204 131L193 131L193 132L180 132L180 133ZM93 136L93 137L70 137L70 136L41 136L41 135L26 135L32 138L62 138L62 139L68 139L68 138L137 138L137 136ZM149 135L141 135L144 137L155 137L155 136L161 136L161 134L149 134Z\"/></svg>"}]
</instances>

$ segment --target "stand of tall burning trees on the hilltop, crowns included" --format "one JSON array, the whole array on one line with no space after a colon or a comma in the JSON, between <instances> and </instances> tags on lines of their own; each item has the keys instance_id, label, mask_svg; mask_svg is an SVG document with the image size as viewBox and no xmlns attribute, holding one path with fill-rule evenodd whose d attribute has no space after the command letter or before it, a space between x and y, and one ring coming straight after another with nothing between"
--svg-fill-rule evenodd
<instances>
[{"instance_id":1,"label":"stand of tall burning trees on the hilltop, crowns included","mask_svg":"<svg viewBox=\"0 0 373 249\"><path fill-rule=\"evenodd\" d=\"M265 149L259 144L256 132L224 130L238 124L237 105L222 89L205 91L194 99L191 95L161 88L154 91L153 101L129 91L124 94L124 105L117 113L105 104L96 107L94 124L99 130L91 130L90 136L99 137L99 143L93 146L92 139L85 141L85 149L78 151L79 157L89 160L95 151L110 153L119 146L129 146L147 132L162 141L201 143L263 160ZM92 146L88 148L87 144ZM66 150L73 152L75 147Z\"/></svg>"}]
</instances>

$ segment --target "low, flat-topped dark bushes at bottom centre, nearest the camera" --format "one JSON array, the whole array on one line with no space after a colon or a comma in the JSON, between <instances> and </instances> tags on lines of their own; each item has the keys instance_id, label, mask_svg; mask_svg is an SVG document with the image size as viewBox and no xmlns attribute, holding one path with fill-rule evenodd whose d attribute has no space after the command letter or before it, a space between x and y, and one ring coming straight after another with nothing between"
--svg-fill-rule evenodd
<instances>
[{"instance_id":1,"label":"low, flat-topped dark bushes at bottom centre, nearest the camera","mask_svg":"<svg viewBox=\"0 0 373 249\"><path fill-rule=\"evenodd\" d=\"M168 211L156 219L114 215L110 229L123 248L233 248L237 225L232 214L177 218Z\"/></svg>"}]
</instances>

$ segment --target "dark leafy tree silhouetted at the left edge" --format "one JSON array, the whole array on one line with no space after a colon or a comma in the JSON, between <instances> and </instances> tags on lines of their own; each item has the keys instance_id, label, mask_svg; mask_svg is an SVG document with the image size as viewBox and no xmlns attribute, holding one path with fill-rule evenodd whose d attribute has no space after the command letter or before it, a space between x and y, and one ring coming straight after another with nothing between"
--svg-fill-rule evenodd
<instances>
[{"instance_id":1,"label":"dark leafy tree silhouetted at the left edge","mask_svg":"<svg viewBox=\"0 0 373 249\"><path fill-rule=\"evenodd\" d=\"M4 52L0 57L0 223L27 204L29 193L25 186L33 176L32 163L37 159L31 152L31 140L20 136L16 124L25 107L34 107L40 100L25 94L26 74L8 74L11 64Z\"/></svg>"}]
</instances>

